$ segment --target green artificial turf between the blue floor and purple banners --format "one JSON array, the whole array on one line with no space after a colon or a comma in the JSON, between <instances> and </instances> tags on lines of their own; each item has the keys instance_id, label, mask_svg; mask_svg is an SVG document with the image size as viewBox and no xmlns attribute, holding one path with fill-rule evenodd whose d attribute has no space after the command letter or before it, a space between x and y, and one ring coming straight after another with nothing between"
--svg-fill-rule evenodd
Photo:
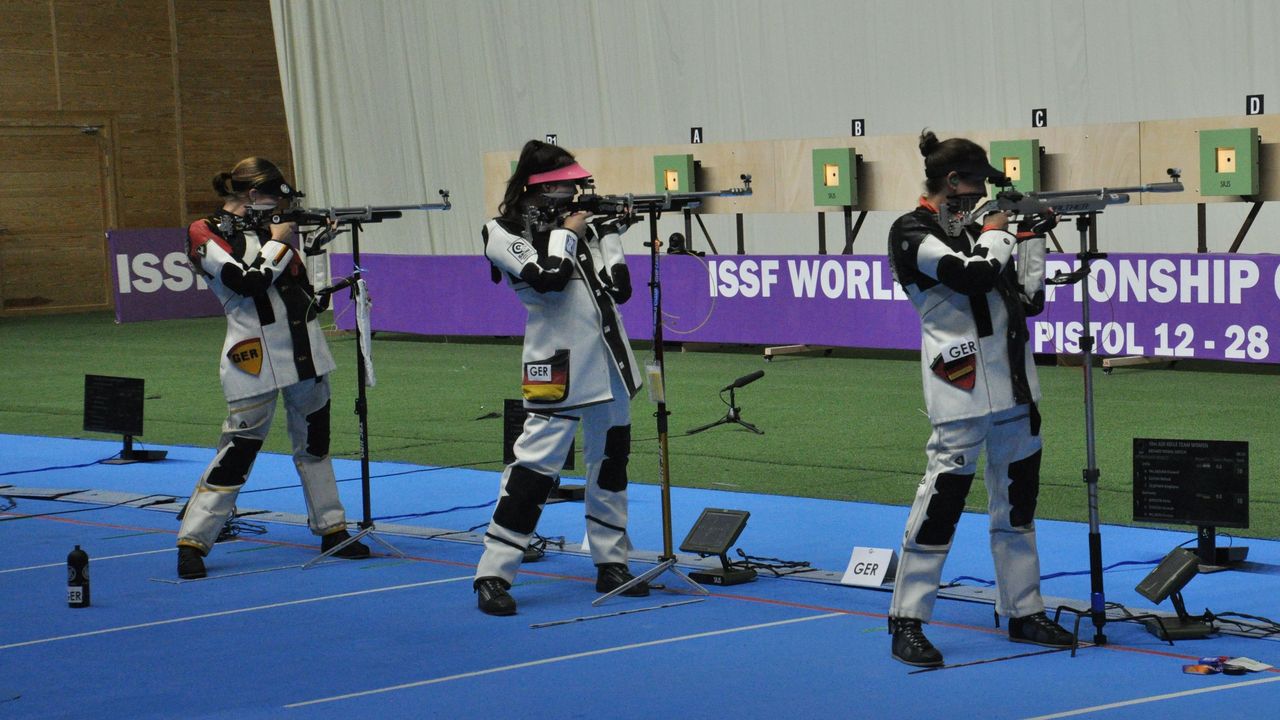
<instances>
[{"instance_id":1,"label":"green artificial turf between the blue floor and purple banners","mask_svg":"<svg viewBox=\"0 0 1280 720\"><path fill-rule=\"evenodd\" d=\"M142 442L211 447L225 413L218 384L223 332L221 318L127 325L104 313L3 319L0 432L105 438L82 430L83 377L127 375L146 379ZM357 457L355 343L338 334L330 346L339 364L333 377L333 452ZM649 350L637 346L636 355L644 360ZM905 355L852 355L765 363L759 348L668 348L672 484L908 505L929 434L919 364ZM502 420L492 414L502 413L503 398L518 395L518 340L380 333L374 360L374 460L502 466ZM718 389L759 369L765 377L739 389L737 402L742 419L765 434L737 425L684 434L722 416ZM1084 520L1083 373L1069 366L1039 370L1046 450L1038 516ZM1134 437L1240 439L1251 451L1252 525L1240 534L1280 537L1280 377L1274 368L1124 368L1110 375L1096 370L1093 378L1103 521L1133 519ZM632 404L632 482L659 479L654 410L641 391ZM283 420L265 448L288 452ZM974 483L968 506L986 506L980 483ZM428 509L403 509L419 510Z\"/></svg>"}]
</instances>

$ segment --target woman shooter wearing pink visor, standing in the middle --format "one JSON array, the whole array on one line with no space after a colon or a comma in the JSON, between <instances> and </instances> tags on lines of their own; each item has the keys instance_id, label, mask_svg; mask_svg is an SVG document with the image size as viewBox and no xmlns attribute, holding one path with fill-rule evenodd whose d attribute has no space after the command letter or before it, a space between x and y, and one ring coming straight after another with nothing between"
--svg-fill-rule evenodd
<instances>
[{"instance_id":1,"label":"woman shooter wearing pink visor, standing in the middle","mask_svg":"<svg viewBox=\"0 0 1280 720\"><path fill-rule=\"evenodd\" d=\"M507 591L580 421L595 589L609 592L632 579L626 489L640 373L617 309L631 296L621 238L628 218L564 211L588 178L568 151L529 141L499 215L481 232L494 282L506 275L529 311L522 354L529 418L516 461L502 474L474 584L489 615L516 612ZM646 596L649 587L640 583L623 594Z\"/></svg>"}]
</instances>

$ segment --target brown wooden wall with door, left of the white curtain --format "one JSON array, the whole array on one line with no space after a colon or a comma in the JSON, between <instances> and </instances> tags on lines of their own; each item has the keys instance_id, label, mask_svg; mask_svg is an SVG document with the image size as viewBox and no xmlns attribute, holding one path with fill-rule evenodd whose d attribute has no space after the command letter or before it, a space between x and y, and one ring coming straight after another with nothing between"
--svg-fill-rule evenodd
<instances>
[{"instance_id":1,"label":"brown wooden wall with door, left of the white curtain","mask_svg":"<svg viewBox=\"0 0 1280 720\"><path fill-rule=\"evenodd\" d=\"M24 231L20 247L0 234L0 304L27 299L0 313L108 307L108 228L175 227L211 211L209 179L247 155L292 178L274 38L268 0L3 0L0 135L91 138L99 177L64 158L61 141L9 142L26 155L6 164L42 168L24 179L65 211L40 213L45 227ZM78 126L102 131L78 136ZM67 283L68 273L86 282Z\"/></svg>"}]
</instances>

